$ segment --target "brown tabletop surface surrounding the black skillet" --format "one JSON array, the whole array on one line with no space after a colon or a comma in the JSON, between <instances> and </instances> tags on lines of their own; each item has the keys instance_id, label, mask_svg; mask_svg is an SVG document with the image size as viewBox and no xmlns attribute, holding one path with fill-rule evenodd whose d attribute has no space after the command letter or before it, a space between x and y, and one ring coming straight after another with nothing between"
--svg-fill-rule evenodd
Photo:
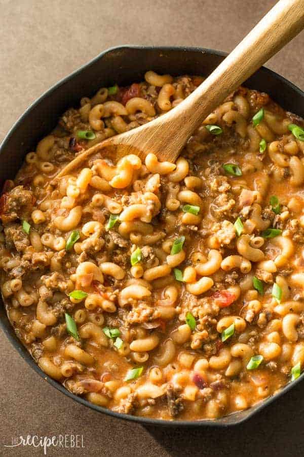
<instances>
[{"instance_id":1,"label":"brown tabletop surface surrounding the black skillet","mask_svg":"<svg viewBox=\"0 0 304 457\"><path fill-rule=\"evenodd\" d=\"M274 0L2 0L0 140L37 96L102 50L121 44L202 46L230 51ZM304 89L304 33L268 66ZM304 113L298 113L304 114ZM74 403L35 374L0 332L0 455L43 455L11 444L22 435L83 435L85 448L47 455L193 456L304 452L303 382L231 429L144 428Z\"/></svg>"}]
</instances>

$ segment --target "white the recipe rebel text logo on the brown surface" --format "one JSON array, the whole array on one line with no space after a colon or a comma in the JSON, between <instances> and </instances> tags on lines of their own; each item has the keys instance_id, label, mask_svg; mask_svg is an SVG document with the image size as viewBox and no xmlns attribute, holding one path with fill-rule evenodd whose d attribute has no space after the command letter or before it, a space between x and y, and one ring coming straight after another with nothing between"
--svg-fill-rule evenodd
<instances>
[{"instance_id":1,"label":"white the recipe rebel text logo on the brown surface","mask_svg":"<svg viewBox=\"0 0 304 457\"><path fill-rule=\"evenodd\" d=\"M85 448L83 435L58 435L58 436L13 436L12 444L4 444L4 447L40 447L43 449L44 455L50 447L58 449L76 449Z\"/></svg>"}]
</instances>

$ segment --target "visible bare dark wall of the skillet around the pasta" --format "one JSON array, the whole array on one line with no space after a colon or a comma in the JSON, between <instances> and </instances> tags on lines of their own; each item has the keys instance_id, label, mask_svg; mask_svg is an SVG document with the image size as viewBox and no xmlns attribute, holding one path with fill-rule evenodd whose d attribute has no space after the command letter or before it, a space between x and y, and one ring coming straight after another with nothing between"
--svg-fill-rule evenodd
<instances>
[{"instance_id":1,"label":"visible bare dark wall of the skillet around the pasta","mask_svg":"<svg viewBox=\"0 0 304 457\"><path fill-rule=\"evenodd\" d=\"M117 82L127 85L141 81L144 73L153 69L161 74L170 73L174 76L197 74L207 76L223 60L225 53L202 48L170 48L170 47L131 47L123 46L109 49L81 69L60 81L43 94L20 117L5 138L0 149L0 184L6 179L13 179L19 170L25 154L33 150L37 142L55 127L58 117L69 107L77 106L83 96L91 96L100 87L110 86ZM304 114L304 92L276 73L261 68L244 83L249 88L267 92L272 99L285 110L298 115ZM26 362L53 386L70 398L92 409L111 416L125 418L142 424L162 426L213 426L227 427L236 425L258 410L283 395L304 377L304 373L292 384L287 384L275 397L271 397L249 410L240 411L216 420L201 421L166 421L148 419L127 414L112 412L94 405L71 394L60 383L49 378L33 361L25 347L15 335L8 321L3 302L0 307L0 324L4 333L18 350Z\"/></svg>"}]
</instances>

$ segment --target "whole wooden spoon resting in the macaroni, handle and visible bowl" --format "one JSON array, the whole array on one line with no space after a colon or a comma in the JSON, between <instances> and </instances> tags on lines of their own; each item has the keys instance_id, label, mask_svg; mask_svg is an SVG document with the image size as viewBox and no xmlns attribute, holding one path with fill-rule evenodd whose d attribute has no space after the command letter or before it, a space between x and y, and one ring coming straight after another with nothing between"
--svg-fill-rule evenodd
<instances>
[{"instance_id":1,"label":"whole wooden spoon resting in the macaroni, handle and visible bowl","mask_svg":"<svg viewBox=\"0 0 304 457\"><path fill-rule=\"evenodd\" d=\"M202 121L221 102L304 28L304 0L280 0L183 102L168 113L94 145L72 160L58 177L78 167L89 155L115 145L117 156L144 158L155 153L174 162Z\"/></svg>"}]
</instances>

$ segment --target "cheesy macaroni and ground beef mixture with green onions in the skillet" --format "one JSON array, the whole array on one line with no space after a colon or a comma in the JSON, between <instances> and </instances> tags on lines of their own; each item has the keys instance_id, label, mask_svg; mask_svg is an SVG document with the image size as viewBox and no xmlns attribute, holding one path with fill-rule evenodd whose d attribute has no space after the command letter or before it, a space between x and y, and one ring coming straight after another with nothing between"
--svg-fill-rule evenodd
<instances>
[{"instance_id":1,"label":"cheesy macaroni and ground beef mixture with green onions in the skillet","mask_svg":"<svg viewBox=\"0 0 304 457\"><path fill-rule=\"evenodd\" d=\"M1 284L15 332L47 375L112 411L217 418L304 369L302 119L241 87L176 164L98 149L201 82L149 71L101 88L3 189Z\"/></svg>"}]
</instances>

